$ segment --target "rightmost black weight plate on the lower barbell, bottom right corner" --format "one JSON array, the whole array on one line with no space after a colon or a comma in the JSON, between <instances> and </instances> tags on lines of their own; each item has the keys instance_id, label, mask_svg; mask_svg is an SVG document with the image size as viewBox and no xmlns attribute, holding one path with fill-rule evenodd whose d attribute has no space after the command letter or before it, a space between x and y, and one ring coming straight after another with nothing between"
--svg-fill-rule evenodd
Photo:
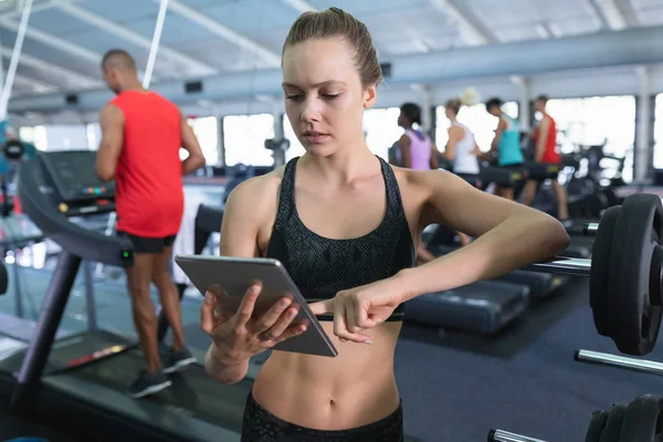
<instances>
[{"instance_id":1,"label":"rightmost black weight plate on the lower barbell, bottom right corner","mask_svg":"<svg viewBox=\"0 0 663 442\"><path fill-rule=\"evenodd\" d=\"M663 399L643 394L627 409L619 442L660 441L662 433Z\"/></svg>"}]
</instances>

